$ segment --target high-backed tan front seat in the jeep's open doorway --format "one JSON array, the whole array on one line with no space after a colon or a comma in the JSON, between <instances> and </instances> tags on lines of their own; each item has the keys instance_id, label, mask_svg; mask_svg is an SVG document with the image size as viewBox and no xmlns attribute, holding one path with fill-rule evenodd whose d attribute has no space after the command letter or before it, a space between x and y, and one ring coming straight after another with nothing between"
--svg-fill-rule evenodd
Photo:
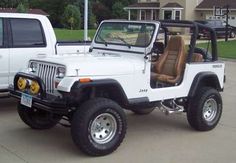
<instances>
[{"instance_id":1,"label":"high-backed tan front seat in the jeep's open doorway","mask_svg":"<svg viewBox=\"0 0 236 163\"><path fill-rule=\"evenodd\" d=\"M172 36L163 55L155 63L152 80L176 84L184 71L186 61L185 44L181 36Z\"/></svg>"}]
</instances>

